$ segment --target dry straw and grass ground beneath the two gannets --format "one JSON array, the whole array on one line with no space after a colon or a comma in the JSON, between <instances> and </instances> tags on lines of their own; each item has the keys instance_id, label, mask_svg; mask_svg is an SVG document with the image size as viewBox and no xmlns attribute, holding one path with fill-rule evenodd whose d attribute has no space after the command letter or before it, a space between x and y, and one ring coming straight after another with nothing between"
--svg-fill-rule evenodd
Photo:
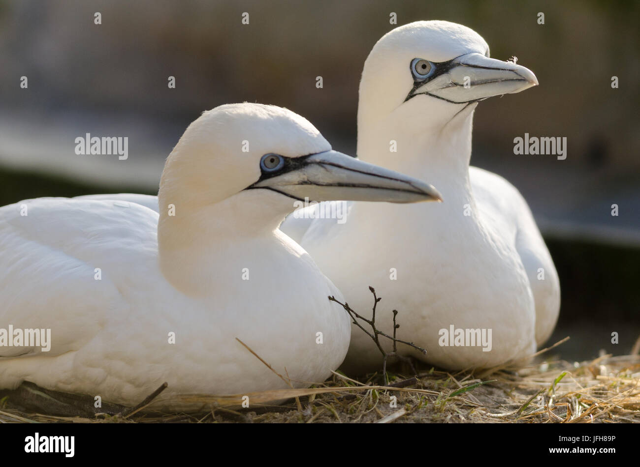
<instances>
[{"instance_id":1,"label":"dry straw and grass ground beneath the two gannets","mask_svg":"<svg viewBox=\"0 0 640 467\"><path fill-rule=\"evenodd\" d=\"M403 376L389 373L392 383ZM640 355L605 355L582 364L537 362L516 372L484 374L419 372L413 385L374 385L380 375L357 381L339 372L323 385L241 395L159 396L131 415L95 418L22 413L0 404L0 423L254 422L254 423L613 423L640 422ZM392 398L396 398L395 404ZM267 402L287 399L281 405ZM180 404L182 413L158 407Z\"/></svg>"}]
</instances>

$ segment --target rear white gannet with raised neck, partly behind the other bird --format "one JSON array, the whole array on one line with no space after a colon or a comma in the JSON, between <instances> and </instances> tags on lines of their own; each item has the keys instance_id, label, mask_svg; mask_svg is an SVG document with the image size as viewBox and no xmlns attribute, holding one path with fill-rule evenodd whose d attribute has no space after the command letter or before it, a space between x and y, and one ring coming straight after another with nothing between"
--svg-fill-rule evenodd
<instances>
[{"instance_id":1,"label":"rear white gannet with raised neck, partly behind the other bird","mask_svg":"<svg viewBox=\"0 0 640 467\"><path fill-rule=\"evenodd\" d=\"M281 227L304 235L301 245L356 312L371 313L367 286L375 287L378 310L388 312L378 311L381 330L392 332L390 310L399 311L398 338L428 350L399 346L405 355L449 369L490 367L531 355L556 324L558 277L529 206L504 178L469 167L477 102L536 84L527 68L489 58L468 27L420 21L393 29L365 61L358 157L427 178L444 202L351 203L344 224L290 215ZM451 326L492 330L491 349L456 346ZM354 328L343 368L374 369L380 360Z\"/></svg>"}]
</instances>

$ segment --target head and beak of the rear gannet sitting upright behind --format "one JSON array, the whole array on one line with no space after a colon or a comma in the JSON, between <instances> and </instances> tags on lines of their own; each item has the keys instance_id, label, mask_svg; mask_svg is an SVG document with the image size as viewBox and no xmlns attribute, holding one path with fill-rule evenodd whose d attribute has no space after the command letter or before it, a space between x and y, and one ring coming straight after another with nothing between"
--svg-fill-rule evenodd
<instances>
[{"instance_id":1,"label":"head and beak of the rear gannet sitting upright behind","mask_svg":"<svg viewBox=\"0 0 640 467\"><path fill-rule=\"evenodd\" d=\"M472 29L417 21L385 34L367 57L358 125L394 113L405 123L411 114L421 128L437 128L469 104L537 84L524 66L490 58L489 46Z\"/></svg>"}]
</instances>

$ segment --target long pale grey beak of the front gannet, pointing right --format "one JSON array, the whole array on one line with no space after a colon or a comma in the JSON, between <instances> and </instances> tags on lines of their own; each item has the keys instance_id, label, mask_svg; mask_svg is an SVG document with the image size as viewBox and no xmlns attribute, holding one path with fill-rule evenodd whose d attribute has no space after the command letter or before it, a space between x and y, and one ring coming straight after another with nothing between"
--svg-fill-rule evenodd
<instances>
[{"instance_id":1,"label":"long pale grey beak of the front gannet, pointing right","mask_svg":"<svg viewBox=\"0 0 640 467\"><path fill-rule=\"evenodd\" d=\"M259 180L250 188L268 188L310 201L442 201L428 183L362 162L337 151L298 157L290 171Z\"/></svg>"}]
</instances>

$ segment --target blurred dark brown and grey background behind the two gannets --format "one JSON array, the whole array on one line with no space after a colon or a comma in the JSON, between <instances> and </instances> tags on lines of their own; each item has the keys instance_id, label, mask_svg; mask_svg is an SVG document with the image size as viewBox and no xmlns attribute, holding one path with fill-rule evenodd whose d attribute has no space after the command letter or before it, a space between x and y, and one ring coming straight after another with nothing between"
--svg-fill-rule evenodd
<instances>
[{"instance_id":1,"label":"blurred dark brown and grey background behind the two gannets","mask_svg":"<svg viewBox=\"0 0 640 467\"><path fill-rule=\"evenodd\" d=\"M548 343L570 335L557 348L568 360L628 353L640 335L638 1L0 0L0 204L156 194L186 126L227 102L288 107L354 154L362 65L396 27L391 12L398 26L465 24L492 57L536 73L540 86L479 105L472 164L520 189L554 257L563 301ZM566 160L513 155L525 132L566 137ZM129 137L129 158L76 155L86 133Z\"/></svg>"}]
</instances>

